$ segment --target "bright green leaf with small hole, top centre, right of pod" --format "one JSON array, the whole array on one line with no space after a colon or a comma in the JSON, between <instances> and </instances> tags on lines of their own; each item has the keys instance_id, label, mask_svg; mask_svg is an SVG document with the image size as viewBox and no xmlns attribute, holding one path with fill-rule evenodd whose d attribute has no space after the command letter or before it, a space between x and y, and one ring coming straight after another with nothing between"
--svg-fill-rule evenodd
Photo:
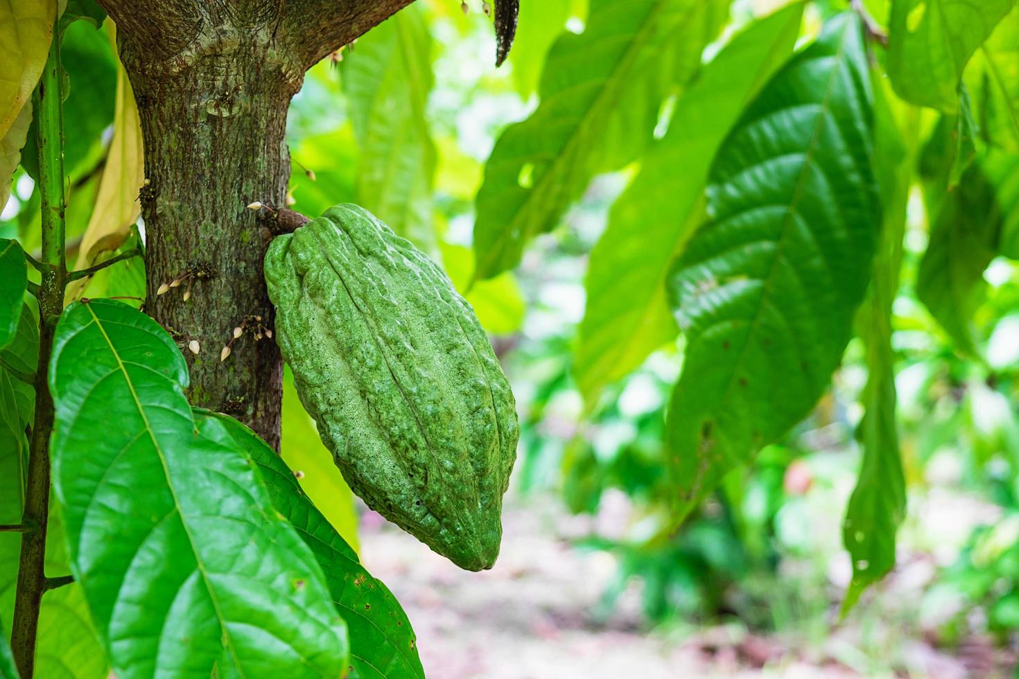
<instances>
[{"instance_id":1,"label":"bright green leaf with small hole, top centre, right of pod","mask_svg":"<svg viewBox=\"0 0 1019 679\"><path fill-rule=\"evenodd\" d=\"M722 0L592 0L583 34L549 52L541 105L499 136L478 191L476 279L520 261L591 178L637 158L662 101L696 72L725 22Z\"/></svg>"}]
</instances>

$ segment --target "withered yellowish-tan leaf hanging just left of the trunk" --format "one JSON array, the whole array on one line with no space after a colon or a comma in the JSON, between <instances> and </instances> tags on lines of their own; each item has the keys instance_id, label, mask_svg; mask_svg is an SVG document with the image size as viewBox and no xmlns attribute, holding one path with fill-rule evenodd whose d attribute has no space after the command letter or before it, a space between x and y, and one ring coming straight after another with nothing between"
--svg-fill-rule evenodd
<instances>
[{"instance_id":1,"label":"withered yellowish-tan leaf hanging just left of the trunk","mask_svg":"<svg viewBox=\"0 0 1019 679\"><path fill-rule=\"evenodd\" d=\"M116 32L112 23L109 40L115 48ZM82 235L75 269L84 269L96 263L98 260L96 245L104 238L118 236L122 242L129 235L131 226L142 214L139 191L143 181L145 181L145 156L142 124L138 117L138 106L135 103L130 81L118 60L113 138L106 155L103 176L99 180L95 208L89 219L89 225ZM75 298L87 283L87 280L72 283L68 287L67 297Z\"/></svg>"}]
</instances>

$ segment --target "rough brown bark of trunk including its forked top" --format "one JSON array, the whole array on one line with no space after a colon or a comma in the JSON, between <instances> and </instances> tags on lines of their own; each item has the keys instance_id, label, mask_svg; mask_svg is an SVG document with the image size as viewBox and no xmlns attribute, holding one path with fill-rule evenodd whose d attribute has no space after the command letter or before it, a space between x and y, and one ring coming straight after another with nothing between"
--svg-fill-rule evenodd
<instances>
[{"instance_id":1,"label":"rough brown bark of trunk including its forked top","mask_svg":"<svg viewBox=\"0 0 1019 679\"><path fill-rule=\"evenodd\" d=\"M100 0L118 24L145 137L146 310L187 358L191 402L274 448L275 344L246 332L220 361L235 327L272 327L262 275L272 233L246 206L285 204L286 111L305 70L411 1Z\"/></svg>"}]
</instances>

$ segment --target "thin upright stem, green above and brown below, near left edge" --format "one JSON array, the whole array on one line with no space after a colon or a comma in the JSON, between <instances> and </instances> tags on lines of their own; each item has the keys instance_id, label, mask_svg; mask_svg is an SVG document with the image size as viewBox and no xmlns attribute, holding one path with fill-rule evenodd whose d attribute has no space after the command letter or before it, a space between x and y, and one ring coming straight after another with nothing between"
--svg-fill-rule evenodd
<instances>
[{"instance_id":1,"label":"thin upright stem, green above and brown below, near left edge","mask_svg":"<svg viewBox=\"0 0 1019 679\"><path fill-rule=\"evenodd\" d=\"M67 285L64 253L63 113L61 111L60 32L54 26L50 54L33 106L39 115L39 188L42 195L42 283L39 286L39 366L36 370L36 419L29 444L23 525L32 529L21 537L11 650L22 679L31 679L36 663L39 607L46 589L46 520L50 499L50 434L53 398L46 384L53 332L63 312Z\"/></svg>"}]
</instances>

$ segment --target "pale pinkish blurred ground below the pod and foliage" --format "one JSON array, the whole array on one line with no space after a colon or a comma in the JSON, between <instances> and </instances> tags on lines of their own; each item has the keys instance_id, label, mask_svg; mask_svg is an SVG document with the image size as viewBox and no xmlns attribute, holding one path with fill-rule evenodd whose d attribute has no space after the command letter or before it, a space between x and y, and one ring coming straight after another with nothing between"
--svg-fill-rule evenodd
<instances>
[{"instance_id":1,"label":"pale pinkish blurred ground below the pod and foliage","mask_svg":"<svg viewBox=\"0 0 1019 679\"><path fill-rule=\"evenodd\" d=\"M598 619L592 612L615 563L608 554L571 545L590 524L552 500L512 496L501 556L483 573L460 570L373 512L362 517L362 558L406 609L429 679L1005 676L1000 665L987 664L997 654L989 647L971 649L974 662L965 652L948 655L922 638L898 644L895 670L881 670L872 657L853 669L846 659L857 653L859 634L847 625L825 628L816 647L788 632L763 636L733 625L681 637L648 631L637 591L628 591L606 620ZM911 669L904 671L903 662Z\"/></svg>"}]
</instances>

